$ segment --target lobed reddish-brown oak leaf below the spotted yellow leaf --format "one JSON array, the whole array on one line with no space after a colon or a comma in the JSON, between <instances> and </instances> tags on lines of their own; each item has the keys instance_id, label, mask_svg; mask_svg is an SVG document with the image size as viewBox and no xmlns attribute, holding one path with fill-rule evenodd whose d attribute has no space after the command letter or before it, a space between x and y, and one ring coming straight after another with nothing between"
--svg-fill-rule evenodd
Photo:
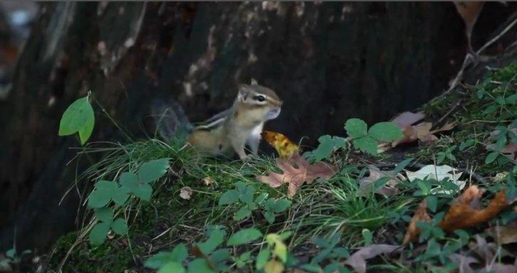
<instances>
[{"instance_id":1,"label":"lobed reddish-brown oak leaf below the spotted yellow leaf","mask_svg":"<svg viewBox=\"0 0 517 273\"><path fill-rule=\"evenodd\" d=\"M331 178L338 170L335 166L318 162L309 164L303 157L293 154L290 161L276 159L276 164L283 173L268 172L268 176L257 176L256 179L276 188L288 183L288 197L293 197L303 183L312 183L316 178ZM296 165L296 166L294 166Z\"/></svg>"}]
</instances>

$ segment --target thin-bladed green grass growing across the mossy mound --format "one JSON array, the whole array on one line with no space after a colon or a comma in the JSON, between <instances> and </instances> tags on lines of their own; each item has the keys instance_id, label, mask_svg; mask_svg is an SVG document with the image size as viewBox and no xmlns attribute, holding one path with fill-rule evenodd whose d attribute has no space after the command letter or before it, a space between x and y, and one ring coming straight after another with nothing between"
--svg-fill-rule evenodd
<instances>
[{"instance_id":1,"label":"thin-bladed green grass growing across the mossy mound","mask_svg":"<svg viewBox=\"0 0 517 273\"><path fill-rule=\"evenodd\" d=\"M432 145L419 146L418 151L405 154L405 157L414 157L419 162L432 164L440 151L474 139L474 146L464 151L454 150L452 154L456 159L445 159L442 164L473 168L486 177L494 177L496 173L513 168L513 161L485 164L484 160L489 154L485 144L489 139L489 132L499 124L508 126L516 118L517 112L515 104L496 104L496 109L488 113L486 108L497 103L498 97L508 97L516 93L516 75L517 63L513 63L488 75L478 85L465 86L424 105L422 110L427 117L437 120L460 101L461 106L444 119L444 122L456 122L458 125L453 132L441 136ZM480 97L481 94L483 97ZM365 229L373 233L375 243L398 244L414 207L422 200L412 196L412 190L401 191L390 197L360 194L358 181L365 172L362 166L343 160L349 159L348 154L345 154L343 158L333 159L333 164L340 168L338 174L328 181L316 181L303 186L292 199L291 207L285 213L277 215L273 225L269 225L258 211L254 211L251 218L236 221L231 216L239 209L238 206L219 206L217 203L221 194L233 189L238 181L254 186L256 196L267 193L274 198L286 198L285 186L271 188L254 178L268 170L277 169L272 157L261 156L244 163L201 158L180 142L167 144L157 139L128 144L91 144L81 150L80 154L102 154L103 159L80 174L78 181L113 180L123 171L135 171L142 163L152 159L169 158L171 166L166 178L153 185L154 195L150 202L132 199L127 208L120 210L130 223L126 236L115 236L103 245L92 247L88 242L78 240L90 225L85 222L82 230L58 240L49 260L49 269L57 269L66 252L78 242L74 245L63 272L99 272L101 269L104 272L124 272L125 269L146 272L142 268L142 262L147 257L162 250L171 250L179 242L187 245L199 242L204 238L204 230L210 225L225 225L229 234L249 227L258 228L264 234L290 230L293 235L288 241L288 249L293 254L302 256L317 251L311 243L314 237L329 238L335 233L340 234L341 244L348 249L361 247L365 244L362 235ZM389 160L390 154L382 154L378 159ZM491 185L496 183L489 181ZM193 190L190 200L179 197L179 192L185 186ZM89 189L86 188L85 193L88 192ZM444 207L444 203L451 199L451 196L444 198L439 208ZM508 211L505 212L507 215L512 213ZM85 220L88 217L89 214L86 214ZM501 218L496 218L492 223L500 221ZM446 237L444 240L448 240L447 238L450 239ZM258 248L260 245L251 246L254 252ZM417 250L410 248L406 253L407 257L414 258L411 255L413 251ZM402 259L375 259L371 267L369 264L369 269L383 272L428 272L433 264L440 263L427 260L408 264ZM251 267L247 268L251 271Z\"/></svg>"}]
</instances>

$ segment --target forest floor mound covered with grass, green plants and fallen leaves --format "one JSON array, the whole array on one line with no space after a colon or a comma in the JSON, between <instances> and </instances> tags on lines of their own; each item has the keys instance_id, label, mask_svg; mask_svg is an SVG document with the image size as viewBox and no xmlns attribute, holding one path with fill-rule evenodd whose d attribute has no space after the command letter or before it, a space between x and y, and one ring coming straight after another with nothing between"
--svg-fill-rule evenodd
<instances>
[{"instance_id":1,"label":"forest floor mound covered with grass, green plants and fallen leaves","mask_svg":"<svg viewBox=\"0 0 517 273\"><path fill-rule=\"evenodd\" d=\"M517 63L494 69L422 106L421 120L399 116L407 143L376 156L356 151L350 139L321 141L320 154L305 156L310 166L317 158L335 171L309 179L313 183L292 196L286 185L258 181L268 171L281 172L271 156L199 159L179 142L156 139L93 144L84 153L105 157L80 178L140 175L142 163L156 159L169 159L167 173L152 184L150 198L145 191L121 202L113 197L122 205L109 209L108 220L100 206L86 210L83 229L61 237L29 267L81 273L517 272L516 76ZM119 179L123 186L125 178ZM114 216L127 227L116 226ZM108 236L95 236L99 229Z\"/></svg>"}]
</instances>

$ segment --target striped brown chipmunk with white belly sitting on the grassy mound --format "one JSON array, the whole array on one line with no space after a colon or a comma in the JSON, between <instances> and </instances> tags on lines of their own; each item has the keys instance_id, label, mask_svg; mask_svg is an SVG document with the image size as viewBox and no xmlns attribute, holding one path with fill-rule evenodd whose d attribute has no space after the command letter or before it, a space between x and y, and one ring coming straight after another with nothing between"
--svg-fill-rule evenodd
<instances>
[{"instance_id":1,"label":"striped brown chipmunk with white belly sitting on the grassy mound","mask_svg":"<svg viewBox=\"0 0 517 273\"><path fill-rule=\"evenodd\" d=\"M234 104L214 117L207 119L197 127L190 124L176 124L189 129L186 143L192 144L203 154L233 156L245 160L246 144L256 156L264 122L276 119L283 102L276 93L251 80L251 85L239 85L239 92ZM184 113L179 105L174 104L173 122L185 123ZM187 120L188 122L188 120ZM174 131L174 130L172 130Z\"/></svg>"}]
</instances>

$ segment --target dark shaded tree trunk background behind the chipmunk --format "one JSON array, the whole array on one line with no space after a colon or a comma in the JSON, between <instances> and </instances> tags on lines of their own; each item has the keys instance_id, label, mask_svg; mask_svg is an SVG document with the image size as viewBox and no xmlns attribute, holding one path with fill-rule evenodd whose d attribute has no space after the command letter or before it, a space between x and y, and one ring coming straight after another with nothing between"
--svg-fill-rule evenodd
<instances>
[{"instance_id":1,"label":"dark shaded tree trunk background behind the chipmunk","mask_svg":"<svg viewBox=\"0 0 517 273\"><path fill-rule=\"evenodd\" d=\"M515 7L487 3L474 48ZM229 107L236 85L253 77L284 100L266 129L313 145L321 134L343 135L350 117L386 120L439 95L467 49L451 2L45 3L23 43L3 17L0 250L11 247L15 229L25 249L75 228L77 194L58 202L97 159L66 166L79 143L57 132L66 107L88 90L144 138L155 97L177 100L200 121ZM506 40L516 41L515 31ZM503 41L486 53L503 51ZM21 55L10 53L21 46ZM123 141L98 105L95 112L90 141Z\"/></svg>"}]
</instances>

